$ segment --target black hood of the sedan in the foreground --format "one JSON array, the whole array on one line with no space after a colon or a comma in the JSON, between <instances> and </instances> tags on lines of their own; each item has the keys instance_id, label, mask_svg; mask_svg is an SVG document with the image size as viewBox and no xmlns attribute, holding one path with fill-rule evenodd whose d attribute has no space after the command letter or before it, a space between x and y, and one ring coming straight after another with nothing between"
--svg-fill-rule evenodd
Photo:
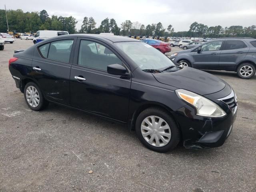
<instances>
[{"instance_id":1,"label":"black hood of the sedan in the foreground","mask_svg":"<svg viewBox=\"0 0 256 192\"><path fill-rule=\"evenodd\" d=\"M152 73L152 75L160 83L200 95L218 92L226 86L226 83L220 78L191 67L184 67L176 72Z\"/></svg>"}]
</instances>

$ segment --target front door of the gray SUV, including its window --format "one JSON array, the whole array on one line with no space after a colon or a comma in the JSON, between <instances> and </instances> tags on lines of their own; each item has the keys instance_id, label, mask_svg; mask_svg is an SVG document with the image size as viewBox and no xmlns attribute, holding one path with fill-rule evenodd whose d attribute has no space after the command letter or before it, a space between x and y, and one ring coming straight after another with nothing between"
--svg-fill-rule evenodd
<instances>
[{"instance_id":1,"label":"front door of the gray SUV, including its window","mask_svg":"<svg viewBox=\"0 0 256 192\"><path fill-rule=\"evenodd\" d=\"M194 54L194 68L214 70L218 68L222 40L212 41L201 46L201 51Z\"/></svg>"}]
</instances>

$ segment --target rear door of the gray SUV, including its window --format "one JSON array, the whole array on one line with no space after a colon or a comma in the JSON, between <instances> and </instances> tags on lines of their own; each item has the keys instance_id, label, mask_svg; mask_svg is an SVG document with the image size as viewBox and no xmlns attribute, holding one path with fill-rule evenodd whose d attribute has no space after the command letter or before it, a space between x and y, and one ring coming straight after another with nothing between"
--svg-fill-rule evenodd
<instances>
[{"instance_id":1,"label":"rear door of the gray SUV, including its window","mask_svg":"<svg viewBox=\"0 0 256 192\"><path fill-rule=\"evenodd\" d=\"M244 59L248 46L242 40L226 40L220 53L219 70L235 71L237 64Z\"/></svg>"}]
</instances>

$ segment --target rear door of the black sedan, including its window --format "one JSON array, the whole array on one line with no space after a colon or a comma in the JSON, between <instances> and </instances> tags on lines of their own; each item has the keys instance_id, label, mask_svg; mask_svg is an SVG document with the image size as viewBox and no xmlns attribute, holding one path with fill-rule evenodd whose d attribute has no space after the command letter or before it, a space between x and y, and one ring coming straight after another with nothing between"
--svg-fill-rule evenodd
<instances>
[{"instance_id":1,"label":"rear door of the black sedan, including its window","mask_svg":"<svg viewBox=\"0 0 256 192\"><path fill-rule=\"evenodd\" d=\"M61 38L38 46L34 53L32 76L50 101L70 105L70 69L75 43L76 38Z\"/></svg>"}]
</instances>

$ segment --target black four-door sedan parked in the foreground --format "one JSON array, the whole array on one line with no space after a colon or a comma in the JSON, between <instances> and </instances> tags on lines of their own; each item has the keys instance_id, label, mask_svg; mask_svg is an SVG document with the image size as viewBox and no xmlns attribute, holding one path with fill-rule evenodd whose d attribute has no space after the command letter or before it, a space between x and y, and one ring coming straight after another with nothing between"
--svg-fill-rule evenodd
<instances>
[{"instance_id":1,"label":"black four-door sedan parked in the foreground","mask_svg":"<svg viewBox=\"0 0 256 192\"><path fill-rule=\"evenodd\" d=\"M127 124L151 150L221 146L236 118L226 82L139 40L64 35L15 52L9 70L32 110L53 102Z\"/></svg>"}]
</instances>

